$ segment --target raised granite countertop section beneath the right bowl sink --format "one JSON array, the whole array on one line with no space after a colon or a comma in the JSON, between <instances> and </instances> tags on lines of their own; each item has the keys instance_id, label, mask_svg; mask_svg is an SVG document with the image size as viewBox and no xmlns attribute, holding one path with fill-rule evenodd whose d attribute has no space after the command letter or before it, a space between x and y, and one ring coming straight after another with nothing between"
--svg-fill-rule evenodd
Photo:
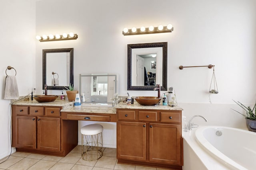
<instances>
[{"instance_id":1,"label":"raised granite countertop section beneath the right bowl sink","mask_svg":"<svg viewBox=\"0 0 256 170\"><path fill-rule=\"evenodd\" d=\"M163 106L163 105L156 105L156 106L142 106L137 102L134 104L127 105L126 103L120 102L118 105L114 106L116 109L150 109L150 110L182 110L181 107L175 106Z\"/></svg>"}]
</instances>

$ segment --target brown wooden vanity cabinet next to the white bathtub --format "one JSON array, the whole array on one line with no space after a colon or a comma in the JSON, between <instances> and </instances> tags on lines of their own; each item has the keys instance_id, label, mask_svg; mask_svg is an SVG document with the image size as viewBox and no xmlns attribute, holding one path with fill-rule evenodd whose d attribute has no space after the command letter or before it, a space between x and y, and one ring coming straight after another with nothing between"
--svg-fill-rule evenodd
<instances>
[{"instance_id":1,"label":"brown wooden vanity cabinet next to the white bathtub","mask_svg":"<svg viewBox=\"0 0 256 170\"><path fill-rule=\"evenodd\" d=\"M117 109L119 163L182 169L182 112Z\"/></svg>"}]
</instances>

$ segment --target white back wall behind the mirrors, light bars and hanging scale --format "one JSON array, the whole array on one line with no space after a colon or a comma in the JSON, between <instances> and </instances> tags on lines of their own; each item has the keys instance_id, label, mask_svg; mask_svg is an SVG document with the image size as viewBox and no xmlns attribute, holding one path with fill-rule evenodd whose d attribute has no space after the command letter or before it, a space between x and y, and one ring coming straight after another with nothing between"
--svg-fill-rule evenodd
<instances>
[{"instance_id":1,"label":"white back wall behind the mirrors, light bars and hanging scale","mask_svg":"<svg viewBox=\"0 0 256 170\"><path fill-rule=\"evenodd\" d=\"M231 108L238 109L232 99L253 104L256 98L255 6L255 0L39 0L36 34L72 31L78 39L36 42L37 89L42 89L42 49L72 47L76 89L79 74L118 73L120 95L156 96L155 91L127 91L127 44L168 42L168 87L174 87L183 115L244 128L244 118ZM122 35L124 27L168 23L172 33ZM213 69L178 68L208 64L215 65L218 94L208 93Z\"/></svg>"}]
</instances>

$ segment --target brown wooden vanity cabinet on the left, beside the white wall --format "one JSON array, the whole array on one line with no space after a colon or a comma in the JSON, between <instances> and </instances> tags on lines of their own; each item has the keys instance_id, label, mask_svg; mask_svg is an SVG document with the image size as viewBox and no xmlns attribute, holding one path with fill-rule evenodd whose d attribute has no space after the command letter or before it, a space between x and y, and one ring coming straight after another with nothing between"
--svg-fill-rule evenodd
<instances>
[{"instance_id":1,"label":"brown wooden vanity cabinet on the left, beside the white wall","mask_svg":"<svg viewBox=\"0 0 256 170\"><path fill-rule=\"evenodd\" d=\"M61 120L60 110L61 107L14 105L13 147L18 151L65 156L76 145L68 147L65 145L63 138L68 134L61 133L61 129L64 129L67 123ZM68 123L68 127L77 129L77 123L74 121ZM64 146L61 147L62 143Z\"/></svg>"}]
</instances>

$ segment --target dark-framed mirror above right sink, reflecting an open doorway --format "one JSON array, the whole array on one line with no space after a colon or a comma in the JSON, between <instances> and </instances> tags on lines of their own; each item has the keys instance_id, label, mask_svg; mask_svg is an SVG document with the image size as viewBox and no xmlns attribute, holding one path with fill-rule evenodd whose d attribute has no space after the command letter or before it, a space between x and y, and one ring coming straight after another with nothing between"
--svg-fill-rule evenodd
<instances>
[{"instance_id":1,"label":"dark-framed mirror above right sink, reflecting an open doorway","mask_svg":"<svg viewBox=\"0 0 256 170\"><path fill-rule=\"evenodd\" d=\"M167 42L127 45L127 90L167 90Z\"/></svg>"}]
</instances>

